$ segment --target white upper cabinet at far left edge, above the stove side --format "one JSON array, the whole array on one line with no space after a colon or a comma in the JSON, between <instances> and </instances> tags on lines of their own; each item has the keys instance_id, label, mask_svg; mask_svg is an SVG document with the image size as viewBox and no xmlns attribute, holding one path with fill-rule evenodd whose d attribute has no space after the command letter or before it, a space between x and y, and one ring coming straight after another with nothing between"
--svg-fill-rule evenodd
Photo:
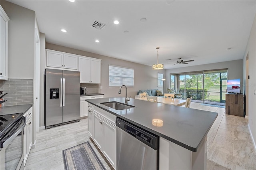
<instances>
[{"instance_id":1,"label":"white upper cabinet at far left edge, above the stove side","mask_svg":"<svg viewBox=\"0 0 256 170\"><path fill-rule=\"evenodd\" d=\"M0 79L8 77L8 21L10 20L2 6L0 6Z\"/></svg>"}]
</instances>

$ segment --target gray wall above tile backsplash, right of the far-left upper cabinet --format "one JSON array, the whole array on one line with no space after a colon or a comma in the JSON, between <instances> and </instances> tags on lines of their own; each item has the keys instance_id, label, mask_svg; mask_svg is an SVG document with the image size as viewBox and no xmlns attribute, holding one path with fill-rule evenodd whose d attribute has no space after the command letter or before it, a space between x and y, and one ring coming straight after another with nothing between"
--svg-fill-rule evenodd
<instances>
[{"instance_id":1,"label":"gray wall above tile backsplash, right of the far-left upper cabinet","mask_svg":"<svg viewBox=\"0 0 256 170\"><path fill-rule=\"evenodd\" d=\"M8 78L34 78L35 12L1 0L8 22Z\"/></svg>"}]
</instances>

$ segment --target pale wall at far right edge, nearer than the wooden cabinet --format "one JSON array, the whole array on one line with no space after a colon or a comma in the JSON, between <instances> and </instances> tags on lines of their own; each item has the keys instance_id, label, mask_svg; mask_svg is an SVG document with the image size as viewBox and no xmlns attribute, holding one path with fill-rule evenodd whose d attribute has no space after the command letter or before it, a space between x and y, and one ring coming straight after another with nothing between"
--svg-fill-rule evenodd
<instances>
[{"instance_id":1,"label":"pale wall at far right edge, nearer than the wooden cabinet","mask_svg":"<svg viewBox=\"0 0 256 170\"><path fill-rule=\"evenodd\" d=\"M254 22L252 24L252 29L244 53L243 65L246 67L246 56L248 54L248 63L249 63L249 72L250 79L248 80L248 119L249 119L249 128L254 141L254 147L256 149L256 15ZM246 75L246 68L244 68L244 75ZM244 77L244 81L247 77Z\"/></svg>"}]
</instances>

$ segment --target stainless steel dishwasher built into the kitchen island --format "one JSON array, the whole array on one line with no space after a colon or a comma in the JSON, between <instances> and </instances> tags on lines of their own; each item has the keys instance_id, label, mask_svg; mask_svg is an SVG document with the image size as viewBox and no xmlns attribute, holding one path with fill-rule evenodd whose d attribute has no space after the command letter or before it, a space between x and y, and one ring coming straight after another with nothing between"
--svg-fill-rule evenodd
<instances>
[{"instance_id":1,"label":"stainless steel dishwasher built into the kitchen island","mask_svg":"<svg viewBox=\"0 0 256 170\"><path fill-rule=\"evenodd\" d=\"M116 118L116 169L157 170L159 136Z\"/></svg>"}]
</instances>

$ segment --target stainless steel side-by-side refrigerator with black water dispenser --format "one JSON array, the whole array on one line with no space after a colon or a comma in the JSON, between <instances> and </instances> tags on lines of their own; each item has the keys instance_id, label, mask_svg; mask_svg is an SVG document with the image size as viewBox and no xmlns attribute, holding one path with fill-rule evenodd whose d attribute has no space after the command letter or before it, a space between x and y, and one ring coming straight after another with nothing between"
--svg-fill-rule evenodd
<instances>
[{"instance_id":1,"label":"stainless steel side-by-side refrigerator with black water dispenser","mask_svg":"<svg viewBox=\"0 0 256 170\"><path fill-rule=\"evenodd\" d=\"M80 72L46 69L45 128L80 121Z\"/></svg>"}]
</instances>

